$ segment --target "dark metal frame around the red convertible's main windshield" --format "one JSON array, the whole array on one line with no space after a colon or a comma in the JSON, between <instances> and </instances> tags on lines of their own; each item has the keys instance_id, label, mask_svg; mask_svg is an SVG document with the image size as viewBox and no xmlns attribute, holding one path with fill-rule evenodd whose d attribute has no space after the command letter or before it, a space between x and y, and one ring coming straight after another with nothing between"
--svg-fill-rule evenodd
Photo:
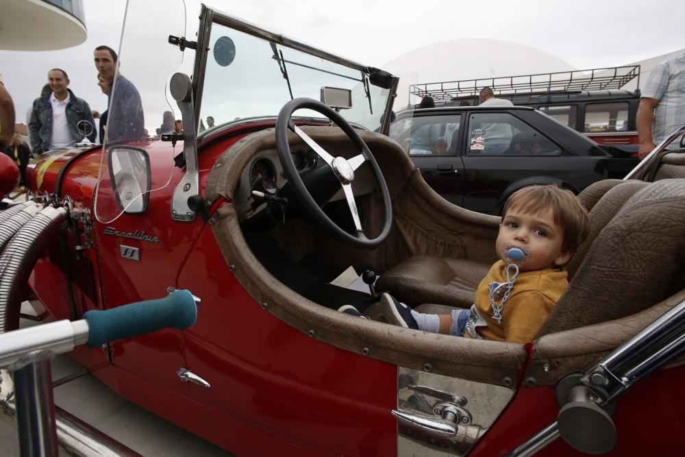
<instances>
[{"instance_id":1,"label":"dark metal frame around the red convertible's main windshield","mask_svg":"<svg viewBox=\"0 0 685 457\"><path fill-rule=\"evenodd\" d=\"M202 137L204 135L202 133L198 133L198 129L199 119L201 119L200 110L202 105L203 88L205 84L204 69L207 65L209 55L208 49L210 49L210 36L212 32L212 25L214 24L223 25L224 27L235 29L238 32L243 32L245 34L249 34L257 38L262 38L263 40L273 43L274 45L284 46L290 49L295 49L296 51L308 53L310 55L313 55L314 57L321 58L323 60L328 60L329 62L333 62L334 64L347 66L349 69L360 71L361 73L366 75L366 78L370 85L379 86L377 84L374 84L371 80L371 72L378 71L373 67L362 65L358 62L354 62L353 60L340 57L339 55L329 53L321 49L317 49L297 40L291 40L290 38L287 38L282 34L275 34L273 32L269 32L268 30L262 29L261 27L258 27L257 25L254 25L252 23L248 23L238 18L227 16L225 14L222 14L221 12L217 12L215 10L212 10L211 8L207 8L206 5L201 5L200 26L197 34L197 50L195 53L195 64L192 78L192 93L193 101L195 104L196 120L195 125L193 127L195 129L196 137ZM388 88L388 99L386 100L386 104L382 114L382 125L380 125L379 127L379 132L382 134L387 134L388 129L390 127L390 115L388 113L390 113L390 111L393 109L393 103L395 101L395 98L397 97L397 86L399 85L398 77L390 75L390 78L391 84ZM205 132L209 133L207 130Z\"/></svg>"}]
</instances>

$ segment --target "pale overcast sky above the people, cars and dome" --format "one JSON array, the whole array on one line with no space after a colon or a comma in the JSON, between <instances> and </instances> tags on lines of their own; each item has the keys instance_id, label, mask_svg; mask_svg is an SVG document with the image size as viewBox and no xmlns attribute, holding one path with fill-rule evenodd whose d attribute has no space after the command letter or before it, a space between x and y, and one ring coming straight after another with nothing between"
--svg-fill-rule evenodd
<instances>
[{"instance_id":1,"label":"pale overcast sky above the people, cars and dome","mask_svg":"<svg viewBox=\"0 0 685 457\"><path fill-rule=\"evenodd\" d=\"M142 0L131 0L131 4L136 1ZM26 111L47 82L47 71L53 67L69 73L69 87L77 97L86 99L92 109L106 109L107 99L96 85L92 50L102 44L118 49L126 2L84 0L83 3L88 29L84 44L61 51L0 51L0 73L14 99L17 123L24 122ZM165 6L150 18L151 27L164 27L173 22L177 12L172 3L163 3ZM618 66L685 48L682 27L685 2L675 0L206 0L204 3L272 32L381 68L413 49L459 38L510 40L555 55L577 69ZM188 37L195 37L199 5L199 1L186 1ZM169 33L174 32L169 30ZM145 40L140 42L138 55L144 55L146 45ZM132 66L144 62L144 57L127 59L124 55L121 71L130 73ZM477 71L477 64L471 66Z\"/></svg>"}]
</instances>

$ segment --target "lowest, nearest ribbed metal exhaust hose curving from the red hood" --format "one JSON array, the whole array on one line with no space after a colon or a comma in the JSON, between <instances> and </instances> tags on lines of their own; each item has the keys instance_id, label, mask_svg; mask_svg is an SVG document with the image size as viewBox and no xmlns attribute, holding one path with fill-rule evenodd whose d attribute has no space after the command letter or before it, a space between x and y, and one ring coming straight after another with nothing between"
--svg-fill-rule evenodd
<instances>
[{"instance_id":1,"label":"lowest, nearest ribbed metal exhaust hose curving from the red hood","mask_svg":"<svg viewBox=\"0 0 685 457\"><path fill-rule=\"evenodd\" d=\"M0 256L0 333L16 330L29 275L42 251L62 230L66 209L47 206L10 240Z\"/></svg>"}]
</instances>

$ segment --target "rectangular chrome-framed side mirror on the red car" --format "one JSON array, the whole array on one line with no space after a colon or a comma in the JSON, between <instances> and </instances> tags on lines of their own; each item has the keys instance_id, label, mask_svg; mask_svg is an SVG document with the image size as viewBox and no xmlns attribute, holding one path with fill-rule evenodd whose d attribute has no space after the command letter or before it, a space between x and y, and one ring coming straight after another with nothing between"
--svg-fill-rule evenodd
<instances>
[{"instance_id":1,"label":"rectangular chrome-framed side mirror on the red car","mask_svg":"<svg viewBox=\"0 0 685 457\"><path fill-rule=\"evenodd\" d=\"M110 178L119 208L127 214L145 212L151 188L147 152L132 147L110 149Z\"/></svg>"}]
</instances>

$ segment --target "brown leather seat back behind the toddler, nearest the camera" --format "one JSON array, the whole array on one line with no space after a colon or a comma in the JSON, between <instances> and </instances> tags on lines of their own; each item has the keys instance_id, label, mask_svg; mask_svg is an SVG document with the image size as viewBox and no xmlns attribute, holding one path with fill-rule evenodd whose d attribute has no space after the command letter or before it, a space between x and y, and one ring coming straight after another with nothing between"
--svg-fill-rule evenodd
<instances>
[{"instance_id":1,"label":"brown leather seat back behind the toddler, nearest the camera","mask_svg":"<svg viewBox=\"0 0 685 457\"><path fill-rule=\"evenodd\" d=\"M684 254L685 179L643 186L592 241L537 337L630 316L666 299L684 286Z\"/></svg>"}]
</instances>

